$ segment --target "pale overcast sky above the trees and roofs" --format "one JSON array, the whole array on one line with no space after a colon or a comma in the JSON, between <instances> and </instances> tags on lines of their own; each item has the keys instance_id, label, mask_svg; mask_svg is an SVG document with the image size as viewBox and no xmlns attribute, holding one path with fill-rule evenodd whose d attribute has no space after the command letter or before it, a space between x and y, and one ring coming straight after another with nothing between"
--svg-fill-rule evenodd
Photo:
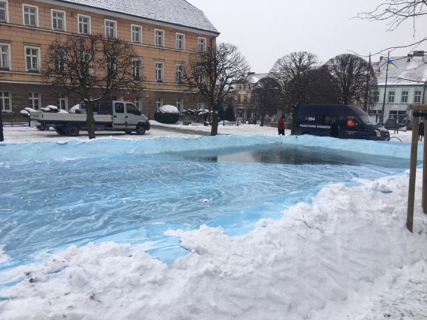
<instances>
[{"instance_id":1,"label":"pale overcast sky above the trees and roofs","mask_svg":"<svg viewBox=\"0 0 427 320\"><path fill-rule=\"evenodd\" d=\"M410 21L387 32L386 22L351 19L383 0L187 1L203 11L221 33L219 42L239 47L256 73L268 72L278 58L294 51L311 52L326 62L350 51L367 56L414 42ZM427 34L426 22L417 21L415 40ZM398 49L390 56L404 56L410 50ZM427 43L416 50L427 51ZM379 55L372 58L378 60Z\"/></svg>"}]
</instances>

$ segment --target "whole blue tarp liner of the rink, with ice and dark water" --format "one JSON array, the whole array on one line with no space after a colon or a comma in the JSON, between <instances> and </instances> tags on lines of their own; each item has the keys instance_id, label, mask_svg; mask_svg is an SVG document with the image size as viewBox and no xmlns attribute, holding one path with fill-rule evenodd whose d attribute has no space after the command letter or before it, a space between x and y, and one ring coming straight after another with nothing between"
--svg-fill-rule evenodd
<instances>
[{"instance_id":1,"label":"whole blue tarp liner of the rink, with ice and dark water","mask_svg":"<svg viewBox=\"0 0 427 320\"><path fill-rule=\"evenodd\" d=\"M0 144L0 245L11 257L0 270L109 240L153 242L147 252L171 262L186 251L167 229L242 234L328 183L402 174L409 151L313 136Z\"/></svg>"}]
</instances>

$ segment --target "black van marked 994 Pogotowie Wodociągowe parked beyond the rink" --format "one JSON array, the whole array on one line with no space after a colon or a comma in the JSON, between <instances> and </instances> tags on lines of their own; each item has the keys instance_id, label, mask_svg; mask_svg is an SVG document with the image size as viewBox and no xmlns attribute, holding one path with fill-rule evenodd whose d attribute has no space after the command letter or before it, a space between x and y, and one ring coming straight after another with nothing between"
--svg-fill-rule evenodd
<instances>
[{"instance_id":1,"label":"black van marked 994 Pogotowie Wodoci\u0105gowe parked beyond the rink","mask_svg":"<svg viewBox=\"0 0 427 320\"><path fill-rule=\"evenodd\" d=\"M300 106L296 134L343 139L389 140L390 133L362 109L346 105Z\"/></svg>"}]
</instances>

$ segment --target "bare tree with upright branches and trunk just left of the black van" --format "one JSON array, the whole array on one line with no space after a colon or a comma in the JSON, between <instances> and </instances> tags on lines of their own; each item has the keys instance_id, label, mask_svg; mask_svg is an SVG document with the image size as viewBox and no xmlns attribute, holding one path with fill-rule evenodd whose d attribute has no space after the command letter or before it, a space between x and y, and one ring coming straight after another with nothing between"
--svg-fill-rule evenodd
<instances>
[{"instance_id":1,"label":"bare tree with upright branches and trunk just left of the black van","mask_svg":"<svg viewBox=\"0 0 427 320\"><path fill-rule=\"evenodd\" d=\"M295 130L300 105L311 100L312 70L317 67L316 55L302 51L278 59L270 71L271 77L280 85L285 111L293 115L291 133Z\"/></svg>"}]
</instances>

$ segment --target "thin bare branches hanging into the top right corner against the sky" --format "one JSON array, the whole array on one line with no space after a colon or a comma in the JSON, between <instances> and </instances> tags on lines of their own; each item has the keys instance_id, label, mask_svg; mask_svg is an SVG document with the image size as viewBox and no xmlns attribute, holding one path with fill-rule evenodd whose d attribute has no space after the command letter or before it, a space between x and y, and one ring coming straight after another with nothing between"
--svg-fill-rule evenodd
<instances>
[{"instance_id":1,"label":"thin bare branches hanging into the top right corner against the sky","mask_svg":"<svg viewBox=\"0 0 427 320\"><path fill-rule=\"evenodd\" d=\"M374 10L357 14L357 18L367 19L369 21L386 21L389 26L389 31L395 30L404 21L411 19L413 36L415 36L416 22L425 15L427 15L427 2L425 0L384 0L384 3L377 6ZM426 40L427 37L423 37L421 40L411 44L386 48L379 53L396 48L417 46Z\"/></svg>"}]
</instances>

